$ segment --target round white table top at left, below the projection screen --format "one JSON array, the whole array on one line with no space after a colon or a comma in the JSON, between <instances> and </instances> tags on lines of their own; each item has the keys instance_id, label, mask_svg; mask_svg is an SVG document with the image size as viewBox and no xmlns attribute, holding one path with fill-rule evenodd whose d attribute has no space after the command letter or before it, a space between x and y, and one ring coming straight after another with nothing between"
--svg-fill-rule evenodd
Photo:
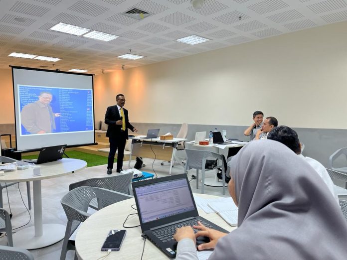
<instances>
[{"instance_id":1,"label":"round white table top at left, below the projection screen","mask_svg":"<svg viewBox=\"0 0 347 260\"><path fill-rule=\"evenodd\" d=\"M41 175L33 176L33 168L29 166L25 170L5 172L4 176L0 176L0 182L21 182L55 178L82 170L87 166L87 163L79 159L63 158L35 166L40 167Z\"/></svg>"}]
</instances>

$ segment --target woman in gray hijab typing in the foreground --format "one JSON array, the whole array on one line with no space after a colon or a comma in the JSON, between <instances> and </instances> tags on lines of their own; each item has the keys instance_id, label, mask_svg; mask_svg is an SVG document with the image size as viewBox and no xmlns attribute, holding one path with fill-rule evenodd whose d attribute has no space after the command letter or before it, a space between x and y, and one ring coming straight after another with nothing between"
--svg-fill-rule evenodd
<instances>
[{"instance_id":1,"label":"woman in gray hijab typing in the foreground","mask_svg":"<svg viewBox=\"0 0 347 260\"><path fill-rule=\"evenodd\" d=\"M284 144L250 142L232 159L229 193L238 228L229 234L201 224L178 229L178 260L197 259L195 237L214 248L209 260L347 259L347 221L322 178Z\"/></svg>"}]
</instances>

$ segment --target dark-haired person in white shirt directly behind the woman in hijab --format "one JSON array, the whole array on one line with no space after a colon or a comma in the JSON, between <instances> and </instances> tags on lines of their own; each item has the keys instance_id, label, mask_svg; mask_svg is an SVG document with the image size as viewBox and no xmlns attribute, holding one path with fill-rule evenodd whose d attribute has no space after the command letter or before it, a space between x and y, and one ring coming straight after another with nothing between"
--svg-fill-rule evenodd
<instances>
[{"instance_id":1,"label":"dark-haired person in white shirt directly behind the woman in hijab","mask_svg":"<svg viewBox=\"0 0 347 260\"><path fill-rule=\"evenodd\" d=\"M327 187L329 188L330 192L333 194L333 196L339 204L338 195L334 192L334 183L330 178L326 168L319 161L310 157L305 157L301 154L301 143L299 141L299 137L296 131L287 126L279 126L274 128L271 132L269 132L267 138L285 144L292 151L298 154L298 156L302 157L306 162L308 162L311 165L311 167L316 170L318 175L321 176L323 181L327 184Z\"/></svg>"}]
</instances>

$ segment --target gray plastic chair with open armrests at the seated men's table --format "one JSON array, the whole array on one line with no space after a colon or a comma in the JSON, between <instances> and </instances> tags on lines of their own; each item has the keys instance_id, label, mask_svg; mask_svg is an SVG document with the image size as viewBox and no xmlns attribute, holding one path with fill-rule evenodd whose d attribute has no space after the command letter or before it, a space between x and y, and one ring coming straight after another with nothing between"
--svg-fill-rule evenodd
<instances>
[{"instance_id":1,"label":"gray plastic chair with open armrests at the seated men's table","mask_svg":"<svg viewBox=\"0 0 347 260\"><path fill-rule=\"evenodd\" d=\"M225 194L225 157L222 154L206 151L206 150L193 150L185 149L187 154L187 160L185 163L184 172L189 169L196 169L196 189L199 188L199 170L201 170L201 193L204 193L204 183L205 183L205 171L213 170L216 168L222 168L222 194ZM219 159L221 161L220 165L216 165L213 169L205 169L205 164L207 159Z\"/></svg>"}]
</instances>

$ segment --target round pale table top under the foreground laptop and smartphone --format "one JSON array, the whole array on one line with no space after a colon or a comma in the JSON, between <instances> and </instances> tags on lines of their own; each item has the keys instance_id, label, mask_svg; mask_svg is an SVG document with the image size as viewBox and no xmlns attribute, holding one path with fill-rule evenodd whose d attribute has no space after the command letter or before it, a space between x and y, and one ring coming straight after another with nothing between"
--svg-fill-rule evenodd
<instances>
[{"instance_id":1,"label":"round pale table top under the foreground laptop and smartphone","mask_svg":"<svg viewBox=\"0 0 347 260\"><path fill-rule=\"evenodd\" d=\"M207 194L194 194L204 199L220 198L218 196ZM123 241L120 251L111 252L107 259L141 259L144 247L144 239L141 237L141 227L124 228L123 222L131 213L136 215L129 216L126 227L140 225L137 211L131 208L135 205L135 199L127 199L103 208L91 215L77 232L75 246L76 253L80 260L95 260L107 255L107 252L101 252L101 247L112 229L125 229L127 234ZM201 217L213 222L214 224L228 230L234 230L236 227L229 226L216 213L205 213L198 210ZM165 259L168 257L161 252L152 242L146 241L143 260Z\"/></svg>"}]
</instances>

